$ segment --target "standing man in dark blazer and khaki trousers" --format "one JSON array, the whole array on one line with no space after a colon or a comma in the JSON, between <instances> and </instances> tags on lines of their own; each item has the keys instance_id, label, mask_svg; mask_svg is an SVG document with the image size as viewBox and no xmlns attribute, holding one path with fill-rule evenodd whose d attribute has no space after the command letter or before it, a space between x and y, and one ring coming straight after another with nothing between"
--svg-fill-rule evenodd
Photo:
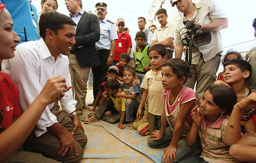
<instances>
[{"instance_id":1,"label":"standing man in dark blazer and khaki trousers","mask_svg":"<svg viewBox=\"0 0 256 163\"><path fill-rule=\"evenodd\" d=\"M82 0L65 0L69 16L77 24L75 40L69 58L72 91L76 92L76 112L80 121L85 120L83 108L90 109L85 104L87 81L92 66L99 66L99 56L95 49L95 42L100 40L100 25L95 14L85 12Z\"/></svg>"}]
</instances>

